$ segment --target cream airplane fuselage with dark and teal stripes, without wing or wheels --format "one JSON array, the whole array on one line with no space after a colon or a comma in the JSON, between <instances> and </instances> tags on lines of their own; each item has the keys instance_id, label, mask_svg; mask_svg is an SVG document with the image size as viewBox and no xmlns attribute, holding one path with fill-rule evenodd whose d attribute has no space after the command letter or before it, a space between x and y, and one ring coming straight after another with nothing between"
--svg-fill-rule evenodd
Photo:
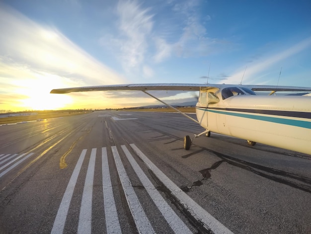
<instances>
[{"instance_id":1,"label":"cream airplane fuselage with dark and teal stripes, without wing or wheels","mask_svg":"<svg viewBox=\"0 0 311 234\"><path fill-rule=\"evenodd\" d=\"M236 88L231 89L235 95L226 89L200 91L196 114L204 128L311 154L310 97L259 96Z\"/></svg>"}]
</instances>

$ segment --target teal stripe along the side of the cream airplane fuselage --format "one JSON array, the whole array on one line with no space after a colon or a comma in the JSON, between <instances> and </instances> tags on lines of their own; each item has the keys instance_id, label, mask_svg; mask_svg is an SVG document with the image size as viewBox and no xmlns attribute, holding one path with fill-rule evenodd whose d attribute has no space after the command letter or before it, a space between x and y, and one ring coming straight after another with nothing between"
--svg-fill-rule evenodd
<instances>
[{"instance_id":1,"label":"teal stripe along the side of the cream airplane fuselage","mask_svg":"<svg viewBox=\"0 0 311 234\"><path fill-rule=\"evenodd\" d=\"M311 122L304 121L304 120L279 118L279 117L269 117L269 116L259 116L259 115L248 115L248 114L241 114L241 113L235 113L235 112L216 111L216 110L212 110L212 109L203 109L203 108L197 108L197 109L199 109L201 111L205 111L205 112L212 112L212 113L222 114L222 115L227 115L227 116L251 118L251 119L257 119L257 120L262 120L262 121L275 122L275 123L281 123L281 124L311 129Z\"/></svg>"}]
</instances>

